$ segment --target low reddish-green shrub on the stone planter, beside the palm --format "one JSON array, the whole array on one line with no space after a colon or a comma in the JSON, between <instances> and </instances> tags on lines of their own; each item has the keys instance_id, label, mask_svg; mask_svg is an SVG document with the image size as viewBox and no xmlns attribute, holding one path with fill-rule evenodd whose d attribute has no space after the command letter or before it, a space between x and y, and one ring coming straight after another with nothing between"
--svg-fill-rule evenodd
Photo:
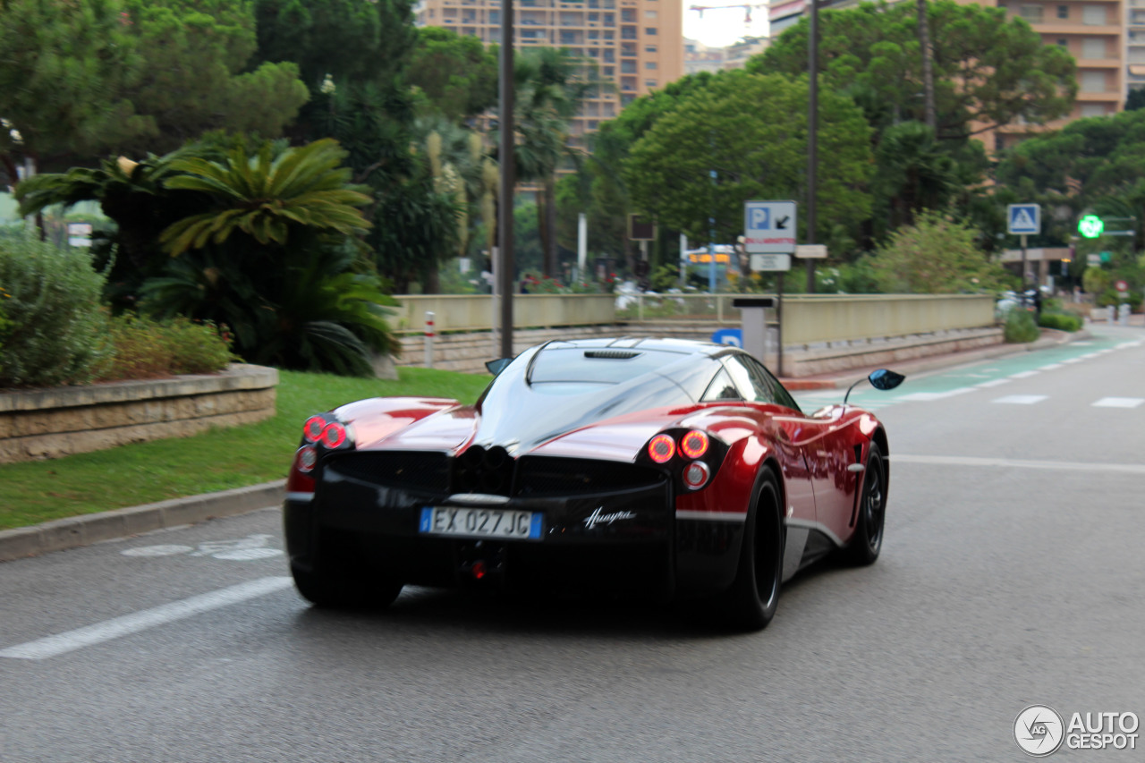
<instances>
[{"instance_id":1,"label":"low reddish-green shrub on the stone planter, beside the palm","mask_svg":"<svg viewBox=\"0 0 1145 763\"><path fill-rule=\"evenodd\" d=\"M111 320L110 337L114 354L100 375L105 382L213 373L232 357L227 332L185 317L159 322L125 314Z\"/></svg>"}]
</instances>

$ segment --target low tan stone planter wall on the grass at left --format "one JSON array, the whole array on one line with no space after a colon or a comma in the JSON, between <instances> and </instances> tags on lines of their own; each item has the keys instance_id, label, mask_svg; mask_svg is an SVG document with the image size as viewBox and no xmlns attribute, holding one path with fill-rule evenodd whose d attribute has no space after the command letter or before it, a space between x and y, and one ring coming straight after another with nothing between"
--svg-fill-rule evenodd
<instances>
[{"instance_id":1,"label":"low tan stone planter wall on the grass at left","mask_svg":"<svg viewBox=\"0 0 1145 763\"><path fill-rule=\"evenodd\" d=\"M188 436L275 415L278 371L221 373L0 394L0 463L58 458L127 442Z\"/></svg>"}]
</instances>

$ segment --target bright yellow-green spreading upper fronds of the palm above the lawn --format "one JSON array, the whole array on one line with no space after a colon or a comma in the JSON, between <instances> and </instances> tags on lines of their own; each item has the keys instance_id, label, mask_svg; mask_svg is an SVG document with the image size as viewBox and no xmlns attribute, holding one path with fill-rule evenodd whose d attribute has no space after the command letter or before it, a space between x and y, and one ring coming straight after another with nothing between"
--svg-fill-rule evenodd
<instances>
[{"instance_id":1,"label":"bright yellow-green spreading upper fronds of the palm above the lawn","mask_svg":"<svg viewBox=\"0 0 1145 763\"><path fill-rule=\"evenodd\" d=\"M341 166L345 158L337 141L324 139L277 156L268 141L254 156L236 147L223 162L176 159L171 166L180 174L167 179L165 187L207 194L218 207L169 226L159 242L176 257L208 242L222 244L236 231L262 245L286 244L292 229L356 235L370 222L355 207L371 198L347 187L350 171Z\"/></svg>"}]
</instances>

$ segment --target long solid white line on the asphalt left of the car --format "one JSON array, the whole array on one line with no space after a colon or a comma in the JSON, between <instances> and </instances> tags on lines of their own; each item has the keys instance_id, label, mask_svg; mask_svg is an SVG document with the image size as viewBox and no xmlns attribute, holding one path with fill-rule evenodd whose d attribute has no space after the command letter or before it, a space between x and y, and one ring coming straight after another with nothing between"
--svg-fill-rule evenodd
<instances>
[{"instance_id":1,"label":"long solid white line on the asphalt left of the car","mask_svg":"<svg viewBox=\"0 0 1145 763\"><path fill-rule=\"evenodd\" d=\"M180 601L172 601L151 609L134 612L121 618L97 622L94 626L77 628L64 634L46 636L34 642L17 644L0 650L0 658L14 660L46 660L85 646L110 642L113 638L129 636L141 630L164 626L168 622L183 620L192 615L218 609L247 599L281 591L290 588L290 577L260 577L258 580L219 589L210 593L200 593Z\"/></svg>"}]
</instances>

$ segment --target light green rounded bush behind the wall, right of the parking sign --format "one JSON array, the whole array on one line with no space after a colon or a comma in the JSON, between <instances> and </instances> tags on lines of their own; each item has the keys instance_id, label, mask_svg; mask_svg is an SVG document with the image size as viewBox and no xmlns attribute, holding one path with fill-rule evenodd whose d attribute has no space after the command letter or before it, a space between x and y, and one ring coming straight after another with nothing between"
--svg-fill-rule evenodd
<instances>
[{"instance_id":1,"label":"light green rounded bush behind the wall, right of the parking sign","mask_svg":"<svg viewBox=\"0 0 1145 763\"><path fill-rule=\"evenodd\" d=\"M965 222L925 211L892 233L868 262L884 293L953 294L994 291L1010 281L978 247Z\"/></svg>"}]
</instances>

